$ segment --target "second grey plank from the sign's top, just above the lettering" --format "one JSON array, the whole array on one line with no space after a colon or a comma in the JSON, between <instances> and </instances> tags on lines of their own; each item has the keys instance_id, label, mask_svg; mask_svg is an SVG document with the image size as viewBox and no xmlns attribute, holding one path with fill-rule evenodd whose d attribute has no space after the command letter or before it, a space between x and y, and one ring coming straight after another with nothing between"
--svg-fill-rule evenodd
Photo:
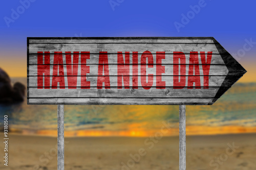
<instances>
[{"instance_id":1,"label":"second grey plank from the sign's top, just above the lettering","mask_svg":"<svg viewBox=\"0 0 256 170\"><path fill-rule=\"evenodd\" d=\"M90 53L99 53L100 51L108 53L117 53L118 51L137 51L142 54L145 51L151 53L165 51L165 53L173 53L174 51L182 51L190 53L191 51L212 51L213 54L219 54L215 44L30 44L29 53L37 53L38 51L89 51Z\"/></svg>"}]
</instances>

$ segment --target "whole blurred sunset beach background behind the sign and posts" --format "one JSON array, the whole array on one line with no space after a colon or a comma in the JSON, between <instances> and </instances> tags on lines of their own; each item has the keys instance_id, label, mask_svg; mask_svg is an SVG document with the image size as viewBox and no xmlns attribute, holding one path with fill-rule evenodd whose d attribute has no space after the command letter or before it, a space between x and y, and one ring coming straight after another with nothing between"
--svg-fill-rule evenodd
<instances>
[{"instance_id":1,"label":"whole blurred sunset beach background behind the sign and posts","mask_svg":"<svg viewBox=\"0 0 256 170\"><path fill-rule=\"evenodd\" d=\"M0 85L13 88L17 101L25 92L25 100L0 105L1 135L4 115L10 132L9 166L0 161L1 169L57 168L57 106L26 101L27 37L79 36L215 37L247 73L214 105L186 107L187 169L255 169L255 5L210 0L2 2ZM65 167L178 169L178 113L173 105L66 105ZM0 150L2 157L4 144Z\"/></svg>"}]
</instances>

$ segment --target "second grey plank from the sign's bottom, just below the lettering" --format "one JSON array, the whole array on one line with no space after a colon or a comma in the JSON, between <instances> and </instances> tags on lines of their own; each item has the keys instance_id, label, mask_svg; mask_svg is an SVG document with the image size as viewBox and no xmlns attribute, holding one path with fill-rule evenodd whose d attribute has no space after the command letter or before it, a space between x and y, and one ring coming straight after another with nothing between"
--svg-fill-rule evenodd
<instances>
[{"instance_id":1,"label":"second grey plank from the sign's bottom, just below the lettering","mask_svg":"<svg viewBox=\"0 0 256 170\"><path fill-rule=\"evenodd\" d=\"M47 98L47 97L81 97L81 98L90 98L90 97L101 97L101 98L115 98L120 96L125 96L125 98L148 98L148 97L163 97L163 98L213 98L218 92L219 87L210 87L209 89L156 89L152 88L150 90L145 90L143 88L138 89L37 89L30 88L29 93L30 97Z\"/></svg>"}]
</instances>

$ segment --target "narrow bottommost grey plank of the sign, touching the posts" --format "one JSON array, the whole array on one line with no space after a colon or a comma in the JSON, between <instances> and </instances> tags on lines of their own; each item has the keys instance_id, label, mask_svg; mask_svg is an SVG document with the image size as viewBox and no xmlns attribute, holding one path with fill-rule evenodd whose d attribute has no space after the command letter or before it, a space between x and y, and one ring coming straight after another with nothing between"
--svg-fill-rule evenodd
<instances>
[{"instance_id":1,"label":"narrow bottommost grey plank of the sign, touching the posts","mask_svg":"<svg viewBox=\"0 0 256 170\"><path fill-rule=\"evenodd\" d=\"M72 104L72 105L211 105L210 98L28 98L28 104Z\"/></svg>"}]
</instances>

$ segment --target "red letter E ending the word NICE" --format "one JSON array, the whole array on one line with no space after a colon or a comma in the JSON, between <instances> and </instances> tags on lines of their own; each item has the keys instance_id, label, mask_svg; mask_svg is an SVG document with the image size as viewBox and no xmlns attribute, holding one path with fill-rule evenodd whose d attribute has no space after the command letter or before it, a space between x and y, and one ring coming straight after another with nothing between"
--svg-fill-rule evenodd
<instances>
[{"instance_id":1,"label":"red letter E ending the word NICE","mask_svg":"<svg viewBox=\"0 0 256 170\"><path fill-rule=\"evenodd\" d=\"M165 81L162 81L162 73L165 73L165 66L162 66L162 59L165 59L165 52L157 52L157 59L156 59L157 89L165 89Z\"/></svg>"}]
</instances>

